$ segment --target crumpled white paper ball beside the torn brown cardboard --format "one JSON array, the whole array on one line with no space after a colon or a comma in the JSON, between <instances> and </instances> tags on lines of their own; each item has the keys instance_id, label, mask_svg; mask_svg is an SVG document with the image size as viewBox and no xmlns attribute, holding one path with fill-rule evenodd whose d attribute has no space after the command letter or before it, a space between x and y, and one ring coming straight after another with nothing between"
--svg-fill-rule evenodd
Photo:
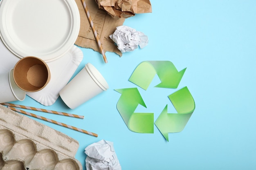
<instances>
[{"instance_id":1,"label":"crumpled white paper ball beside the torn brown cardboard","mask_svg":"<svg viewBox=\"0 0 256 170\"><path fill-rule=\"evenodd\" d=\"M129 26L117 26L113 34L109 36L122 52L133 51L138 46L143 49L148 44L148 36L140 31L136 31Z\"/></svg>"}]
</instances>

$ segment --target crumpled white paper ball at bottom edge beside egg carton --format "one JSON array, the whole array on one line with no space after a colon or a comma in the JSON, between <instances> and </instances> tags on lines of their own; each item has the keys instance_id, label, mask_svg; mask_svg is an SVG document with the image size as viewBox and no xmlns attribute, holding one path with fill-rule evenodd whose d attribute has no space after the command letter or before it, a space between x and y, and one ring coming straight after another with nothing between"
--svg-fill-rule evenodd
<instances>
[{"instance_id":1,"label":"crumpled white paper ball at bottom edge beside egg carton","mask_svg":"<svg viewBox=\"0 0 256 170\"><path fill-rule=\"evenodd\" d=\"M113 142L101 140L85 148L87 170L121 170Z\"/></svg>"}]
</instances>

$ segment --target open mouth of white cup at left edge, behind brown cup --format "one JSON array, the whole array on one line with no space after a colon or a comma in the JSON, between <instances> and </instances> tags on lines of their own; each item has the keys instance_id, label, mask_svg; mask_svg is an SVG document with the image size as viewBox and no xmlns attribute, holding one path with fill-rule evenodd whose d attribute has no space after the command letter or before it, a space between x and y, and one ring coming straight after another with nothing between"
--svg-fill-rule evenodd
<instances>
[{"instance_id":1,"label":"open mouth of white cup at left edge, behind brown cup","mask_svg":"<svg viewBox=\"0 0 256 170\"><path fill-rule=\"evenodd\" d=\"M23 101L25 100L26 97L26 92L23 91L21 88L19 88L16 83L14 82L13 79L13 68L9 71L8 74L8 78L9 78L9 85L11 88L11 92L13 93L13 96L18 99L19 101ZM14 87L13 87L14 86ZM15 90L16 89L16 90ZM18 90L18 91L17 91ZM17 91L17 92L16 92Z\"/></svg>"}]
</instances>

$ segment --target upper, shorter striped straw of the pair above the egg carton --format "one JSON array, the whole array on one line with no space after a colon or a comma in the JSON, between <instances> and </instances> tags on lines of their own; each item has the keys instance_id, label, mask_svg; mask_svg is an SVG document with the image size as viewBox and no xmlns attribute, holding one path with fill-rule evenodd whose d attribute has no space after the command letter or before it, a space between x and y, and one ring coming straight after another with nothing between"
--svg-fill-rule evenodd
<instances>
[{"instance_id":1,"label":"upper, shorter striped straw of the pair above the egg carton","mask_svg":"<svg viewBox=\"0 0 256 170\"><path fill-rule=\"evenodd\" d=\"M52 114L56 114L56 115L75 117L75 118L79 118L79 119L83 119L84 118L84 116L81 116L81 115L74 115L74 114L70 114L70 113L57 112L57 111L54 111L54 110L46 110L46 109L43 109L43 108L34 108L34 107L23 106L23 105L18 105L18 104L11 104L11 103L1 103L1 104L4 105L4 106L12 106L12 107L16 107L16 108L24 108L24 109L28 109L28 110L35 110L35 111L39 111L39 112L52 113Z\"/></svg>"}]
</instances>

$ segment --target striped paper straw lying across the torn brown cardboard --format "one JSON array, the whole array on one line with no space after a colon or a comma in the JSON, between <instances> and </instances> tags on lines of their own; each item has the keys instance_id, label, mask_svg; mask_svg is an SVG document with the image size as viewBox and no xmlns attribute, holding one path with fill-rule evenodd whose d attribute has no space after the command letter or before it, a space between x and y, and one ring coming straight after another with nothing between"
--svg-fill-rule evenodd
<instances>
[{"instance_id":1,"label":"striped paper straw lying across the torn brown cardboard","mask_svg":"<svg viewBox=\"0 0 256 170\"><path fill-rule=\"evenodd\" d=\"M89 22L90 22L90 25L91 25L91 27L92 27L92 31L93 31L93 33L94 33L94 37L96 38L97 44L98 44L98 46L99 46L99 51L100 51L100 53L101 53L102 56L103 56L104 62L105 62L105 63L108 63L108 60L107 60L106 55L105 55L105 52L104 52L104 50L103 50L103 48L102 48L102 45L101 45L101 42L100 42L100 40L99 40L98 33L97 33L97 31L96 31L96 29L95 29L95 27L94 27L94 25L93 25L92 18L91 18L91 16L90 16L90 13L89 13L89 11L88 11L88 8L87 8L87 6L86 6L86 4L85 4L85 0L81 0L81 1L82 1L82 3L83 3L83 7L84 7L84 9L85 9L85 13L86 13L86 15L87 15L87 18L88 18L88 20L89 20Z\"/></svg>"}]
</instances>

